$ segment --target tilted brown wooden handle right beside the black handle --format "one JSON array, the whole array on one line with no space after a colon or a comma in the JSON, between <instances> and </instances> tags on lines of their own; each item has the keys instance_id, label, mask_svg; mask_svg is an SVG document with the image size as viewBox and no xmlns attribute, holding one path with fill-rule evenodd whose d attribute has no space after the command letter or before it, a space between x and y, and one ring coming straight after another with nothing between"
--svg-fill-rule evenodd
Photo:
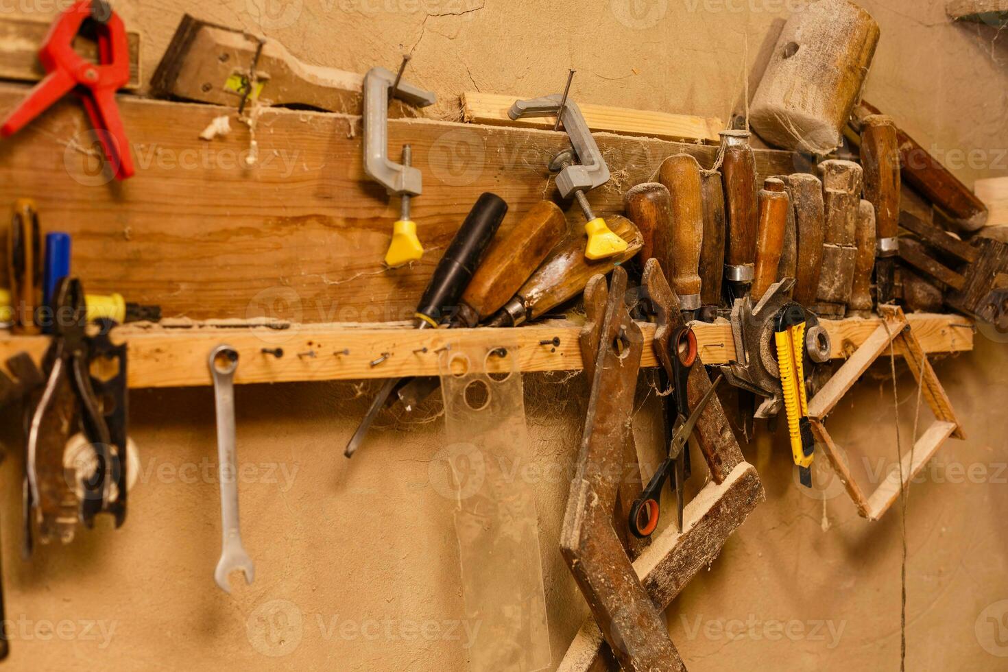
<instances>
[{"instance_id":1,"label":"tilted brown wooden handle right beside the black handle","mask_svg":"<svg viewBox=\"0 0 1008 672\"><path fill-rule=\"evenodd\" d=\"M563 211L543 200L507 234L498 236L462 295L463 323L476 326L500 310L566 233Z\"/></svg>"}]
</instances>

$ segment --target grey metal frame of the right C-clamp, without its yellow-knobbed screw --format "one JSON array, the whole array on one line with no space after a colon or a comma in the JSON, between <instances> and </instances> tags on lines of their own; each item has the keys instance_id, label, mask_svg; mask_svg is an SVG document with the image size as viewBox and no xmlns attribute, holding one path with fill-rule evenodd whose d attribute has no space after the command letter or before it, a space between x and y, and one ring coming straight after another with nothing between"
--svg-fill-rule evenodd
<instances>
[{"instance_id":1,"label":"grey metal frame of the right C-clamp, without its yellow-knobbed screw","mask_svg":"<svg viewBox=\"0 0 1008 672\"><path fill-rule=\"evenodd\" d=\"M562 96L543 96L528 101L515 101L508 116L513 120L522 117L552 117L559 110ZM571 138L579 165L569 165L556 176L556 187L560 195L568 198L575 191L591 191L609 181L609 166L602 157L602 151L596 144L592 132L588 128L581 108L573 101L568 101L560 113L563 129Z\"/></svg>"}]
</instances>

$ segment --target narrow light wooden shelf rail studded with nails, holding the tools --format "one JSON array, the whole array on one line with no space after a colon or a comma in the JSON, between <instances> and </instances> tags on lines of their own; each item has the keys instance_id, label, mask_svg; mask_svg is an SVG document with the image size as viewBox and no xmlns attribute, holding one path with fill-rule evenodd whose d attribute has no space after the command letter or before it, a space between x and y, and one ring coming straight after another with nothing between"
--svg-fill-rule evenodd
<instances>
[{"instance_id":1,"label":"narrow light wooden shelf rail studded with nails, holding the tools","mask_svg":"<svg viewBox=\"0 0 1008 672\"><path fill-rule=\"evenodd\" d=\"M973 350L972 323L960 315L911 314L907 316L925 353ZM833 356L843 359L862 345L881 324L875 319L824 320L833 340ZM577 371L583 368L578 334L581 326L564 320L517 329L425 329L405 323L286 324L285 328L241 323L191 323L187 328L161 325L126 325L114 339L129 347L131 388L191 387L211 384L207 358L216 346L228 344L240 356L235 382L289 383L337 381L399 376L438 375L436 351L451 343L486 344L499 335L502 344L518 342L523 372ZM706 364L726 364L736 359L731 325L695 322L694 328ZM653 324L642 324L645 347L642 365L656 367L651 342ZM540 342L559 339L559 346ZM0 361L20 352L40 361L48 347L46 337L0 335ZM280 348L276 358L263 349ZM426 352L423 349L426 349ZM344 354L348 351L349 354ZM388 353L379 365L371 363ZM313 354L313 357L311 356ZM897 354L900 354L897 350Z\"/></svg>"}]
</instances>

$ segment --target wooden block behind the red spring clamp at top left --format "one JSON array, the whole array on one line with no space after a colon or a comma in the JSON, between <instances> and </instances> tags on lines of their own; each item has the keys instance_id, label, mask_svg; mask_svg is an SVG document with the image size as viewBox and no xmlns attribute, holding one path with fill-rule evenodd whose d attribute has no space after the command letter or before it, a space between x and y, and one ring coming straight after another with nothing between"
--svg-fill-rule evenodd
<instances>
[{"instance_id":1,"label":"wooden block behind the red spring clamp at top left","mask_svg":"<svg viewBox=\"0 0 1008 672\"><path fill-rule=\"evenodd\" d=\"M38 61L38 49L45 41L50 21L31 19L0 19L0 79L18 82L37 82L45 77L45 69ZM140 88L140 33L128 31L129 84L125 89ZM98 46L86 39L77 39L74 48L85 58L95 61Z\"/></svg>"}]
</instances>

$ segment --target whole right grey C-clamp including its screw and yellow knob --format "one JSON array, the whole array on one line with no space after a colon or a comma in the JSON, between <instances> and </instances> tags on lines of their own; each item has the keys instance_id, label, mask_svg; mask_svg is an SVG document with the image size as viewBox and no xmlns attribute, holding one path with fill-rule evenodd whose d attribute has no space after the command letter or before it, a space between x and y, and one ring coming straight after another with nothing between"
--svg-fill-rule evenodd
<instances>
[{"instance_id":1,"label":"whole right grey C-clamp including its screw and yellow knob","mask_svg":"<svg viewBox=\"0 0 1008 672\"><path fill-rule=\"evenodd\" d=\"M558 95L515 101L508 116L512 120L558 116L563 122L563 130L571 138L574 149L561 151L549 164L551 171L559 173L556 175L556 188L564 198L574 195L585 215L585 232L588 234L585 256L592 261L615 257L626 252L626 241L613 233L604 219L595 216L585 195L609 181L609 167L588 129L581 108L574 101L564 101L565 98Z\"/></svg>"}]
</instances>

